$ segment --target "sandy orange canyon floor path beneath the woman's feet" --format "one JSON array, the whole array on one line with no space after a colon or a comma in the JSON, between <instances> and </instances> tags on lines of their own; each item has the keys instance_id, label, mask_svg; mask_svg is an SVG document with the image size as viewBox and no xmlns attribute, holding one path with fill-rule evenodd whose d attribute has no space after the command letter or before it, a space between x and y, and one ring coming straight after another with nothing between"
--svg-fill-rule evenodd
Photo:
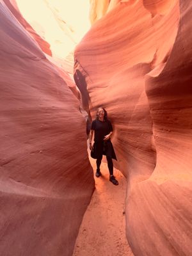
<instances>
[{"instance_id":1,"label":"sandy orange canyon floor path beneath the woman's feet","mask_svg":"<svg viewBox=\"0 0 192 256\"><path fill-rule=\"evenodd\" d=\"M95 160L90 158L95 172ZM119 182L109 182L108 166L101 164L102 176L95 177L95 191L84 214L73 256L131 256L125 237L126 180L119 170L114 175Z\"/></svg>"}]
</instances>

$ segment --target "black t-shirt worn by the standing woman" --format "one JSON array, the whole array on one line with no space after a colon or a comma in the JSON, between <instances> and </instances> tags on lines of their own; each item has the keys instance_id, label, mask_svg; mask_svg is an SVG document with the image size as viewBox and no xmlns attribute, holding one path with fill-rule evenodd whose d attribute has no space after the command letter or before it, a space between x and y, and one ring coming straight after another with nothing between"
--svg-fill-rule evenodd
<instances>
[{"instance_id":1,"label":"black t-shirt worn by the standing woman","mask_svg":"<svg viewBox=\"0 0 192 256\"><path fill-rule=\"evenodd\" d=\"M94 141L103 141L104 136L108 135L109 132L113 132L113 127L109 120L102 122L95 119L92 122L92 130L95 131Z\"/></svg>"}]
</instances>

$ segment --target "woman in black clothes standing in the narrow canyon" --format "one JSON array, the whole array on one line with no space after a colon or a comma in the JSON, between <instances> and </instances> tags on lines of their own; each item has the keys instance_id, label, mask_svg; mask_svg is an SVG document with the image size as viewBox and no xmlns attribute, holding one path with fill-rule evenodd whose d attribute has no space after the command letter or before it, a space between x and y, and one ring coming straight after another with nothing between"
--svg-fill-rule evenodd
<instances>
[{"instance_id":1,"label":"woman in black clothes standing in the narrow canyon","mask_svg":"<svg viewBox=\"0 0 192 256\"><path fill-rule=\"evenodd\" d=\"M94 144L92 146L92 137L94 131ZM109 168L109 180L114 184L118 185L118 181L113 176L113 159L116 160L115 150L111 143L111 134L113 133L113 127L111 122L108 120L108 113L104 108L97 110L97 116L92 122L92 128L90 131L90 150L94 150L95 157L97 159L97 171L96 177L100 177L100 163L102 155L106 155Z\"/></svg>"}]
</instances>

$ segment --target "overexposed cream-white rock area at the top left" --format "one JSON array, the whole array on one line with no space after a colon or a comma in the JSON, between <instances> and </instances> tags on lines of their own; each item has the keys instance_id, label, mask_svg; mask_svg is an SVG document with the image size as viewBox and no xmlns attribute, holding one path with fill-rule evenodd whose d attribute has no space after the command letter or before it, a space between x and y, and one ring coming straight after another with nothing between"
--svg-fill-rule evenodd
<instances>
[{"instance_id":1,"label":"overexposed cream-white rock area at the top left","mask_svg":"<svg viewBox=\"0 0 192 256\"><path fill-rule=\"evenodd\" d=\"M65 60L90 28L89 0L15 1L24 19L50 44L54 59Z\"/></svg>"}]
</instances>

